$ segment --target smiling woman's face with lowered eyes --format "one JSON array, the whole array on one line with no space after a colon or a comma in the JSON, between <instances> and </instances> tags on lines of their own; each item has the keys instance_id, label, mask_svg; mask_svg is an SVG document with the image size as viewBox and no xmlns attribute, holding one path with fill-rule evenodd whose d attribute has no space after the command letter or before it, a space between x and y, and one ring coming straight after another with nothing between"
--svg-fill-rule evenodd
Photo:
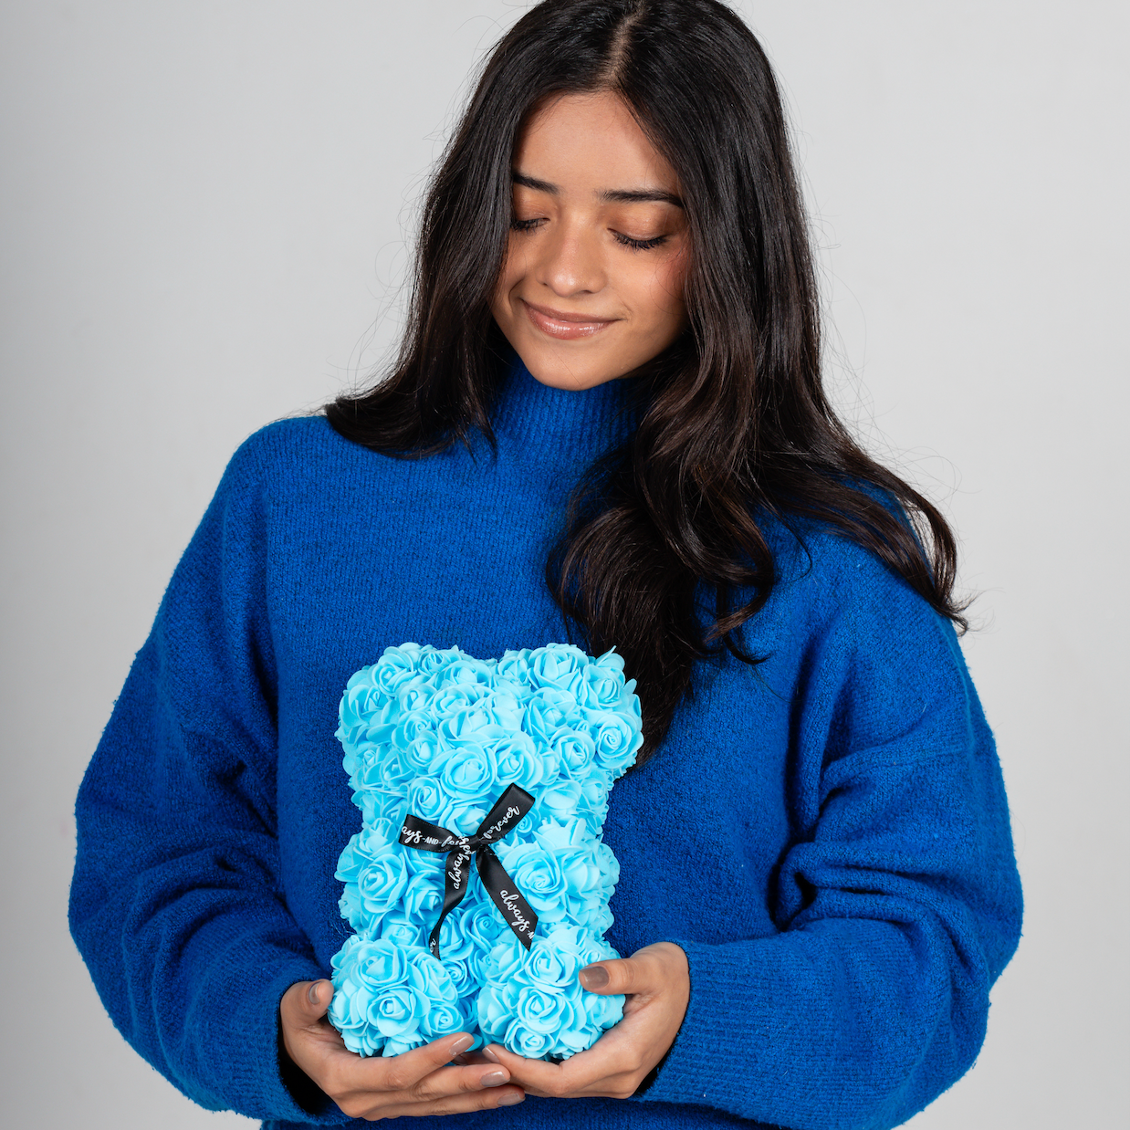
<instances>
[{"instance_id":1,"label":"smiling woman's face with lowered eyes","mask_svg":"<svg viewBox=\"0 0 1130 1130\"><path fill-rule=\"evenodd\" d=\"M650 360L687 324L686 216L671 166L612 94L570 94L514 153L514 220L490 303L542 383L590 389Z\"/></svg>"}]
</instances>

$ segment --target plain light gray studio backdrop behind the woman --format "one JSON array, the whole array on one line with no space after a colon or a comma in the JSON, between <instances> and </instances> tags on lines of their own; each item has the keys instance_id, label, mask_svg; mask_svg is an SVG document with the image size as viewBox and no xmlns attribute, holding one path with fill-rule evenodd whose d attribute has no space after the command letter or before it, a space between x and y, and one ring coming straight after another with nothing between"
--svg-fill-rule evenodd
<instances>
[{"instance_id":1,"label":"plain light gray studio backdrop behind the woman","mask_svg":"<svg viewBox=\"0 0 1130 1130\"><path fill-rule=\"evenodd\" d=\"M249 1125L113 1031L72 802L225 460L393 340L414 201L505 0L2 6L3 1122ZM1127 1116L1128 6L744 0L783 79L838 402L981 593L1027 915L920 1130Z\"/></svg>"}]
</instances>

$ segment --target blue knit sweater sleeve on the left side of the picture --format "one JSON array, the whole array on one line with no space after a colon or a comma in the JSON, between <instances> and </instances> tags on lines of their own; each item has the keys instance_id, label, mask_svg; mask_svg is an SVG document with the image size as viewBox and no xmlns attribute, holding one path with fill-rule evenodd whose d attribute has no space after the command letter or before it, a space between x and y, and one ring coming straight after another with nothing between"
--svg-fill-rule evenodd
<instances>
[{"instance_id":1,"label":"blue knit sweater sleeve on the left side of the picture","mask_svg":"<svg viewBox=\"0 0 1130 1130\"><path fill-rule=\"evenodd\" d=\"M70 924L118 1029L190 1098L339 1122L279 1062L282 993L324 973L279 873L263 444L225 472L87 768Z\"/></svg>"}]
</instances>

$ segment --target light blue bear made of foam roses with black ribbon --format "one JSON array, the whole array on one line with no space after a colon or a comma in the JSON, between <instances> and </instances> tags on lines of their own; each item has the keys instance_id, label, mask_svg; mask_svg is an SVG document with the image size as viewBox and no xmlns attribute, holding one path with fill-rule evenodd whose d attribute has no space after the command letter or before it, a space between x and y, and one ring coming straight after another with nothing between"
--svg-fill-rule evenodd
<instances>
[{"instance_id":1,"label":"light blue bear made of foam roses with black ribbon","mask_svg":"<svg viewBox=\"0 0 1130 1130\"><path fill-rule=\"evenodd\" d=\"M624 998L577 973L619 956L601 829L643 744L634 690L614 652L553 643L488 660L406 643L349 679L337 737L363 822L338 862L354 933L329 1018L350 1051L469 1032L562 1060L620 1019Z\"/></svg>"}]
</instances>

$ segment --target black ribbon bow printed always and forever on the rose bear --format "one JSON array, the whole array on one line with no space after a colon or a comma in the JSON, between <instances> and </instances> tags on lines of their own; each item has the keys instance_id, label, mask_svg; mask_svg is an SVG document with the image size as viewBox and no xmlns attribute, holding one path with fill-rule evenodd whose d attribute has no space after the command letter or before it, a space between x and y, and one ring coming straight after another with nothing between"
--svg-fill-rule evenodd
<instances>
[{"instance_id":1,"label":"black ribbon bow printed always and forever on the rose bear","mask_svg":"<svg viewBox=\"0 0 1130 1130\"><path fill-rule=\"evenodd\" d=\"M427 940L428 949L434 957L440 956L440 927L443 920L463 901L467 894L467 883L471 877L471 859L479 869L483 886L486 887L495 906L502 911L506 924L518 935L519 941L530 948L533 931L538 925L538 915L522 897L514 880L506 873L501 860L490 847L502 840L523 816L533 807L533 798L516 784L510 785L495 801L494 808L487 812L486 819L479 825L473 836L459 836L454 832L428 824L410 812L405 817L405 826L400 829L400 842L406 847L418 847L420 851L445 851L447 863L444 870L443 910L432 936Z\"/></svg>"}]
</instances>

